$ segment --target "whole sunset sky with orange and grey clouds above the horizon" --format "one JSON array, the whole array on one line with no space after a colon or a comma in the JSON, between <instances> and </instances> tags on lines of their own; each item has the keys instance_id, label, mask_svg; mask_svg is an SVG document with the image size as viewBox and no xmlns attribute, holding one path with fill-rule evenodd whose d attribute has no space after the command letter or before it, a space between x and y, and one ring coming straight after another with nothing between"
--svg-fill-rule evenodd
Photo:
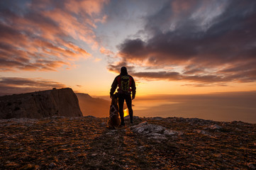
<instances>
[{"instance_id":1,"label":"whole sunset sky with orange and grey clouds above the horizon","mask_svg":"<svg viewBox=\"0 0 256 170\"><path fill-rule=\"evenodd\" d=\"M256 90L255 0L2 0L0 94Z\"/></svg>"}]
</instances>

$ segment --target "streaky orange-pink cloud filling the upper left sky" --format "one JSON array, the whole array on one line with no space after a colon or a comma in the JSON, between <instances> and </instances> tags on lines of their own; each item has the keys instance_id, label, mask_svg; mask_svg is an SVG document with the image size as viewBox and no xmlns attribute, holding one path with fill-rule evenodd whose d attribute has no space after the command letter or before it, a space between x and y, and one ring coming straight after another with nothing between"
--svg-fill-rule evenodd
<instances>
[{"instance_id":1,"label":"streaky orange-pink cloud filling the upper left sky","mask_svg":"<svg viewBox=\"0 0 256 170\"><path fill-rule=\"evenodd\" d=\"M107 1L1 1L0 71L55 71L87 59L99 44L97 22ZM81 43L82 42L82 43Z\"/></svg>"}]
</instances>

